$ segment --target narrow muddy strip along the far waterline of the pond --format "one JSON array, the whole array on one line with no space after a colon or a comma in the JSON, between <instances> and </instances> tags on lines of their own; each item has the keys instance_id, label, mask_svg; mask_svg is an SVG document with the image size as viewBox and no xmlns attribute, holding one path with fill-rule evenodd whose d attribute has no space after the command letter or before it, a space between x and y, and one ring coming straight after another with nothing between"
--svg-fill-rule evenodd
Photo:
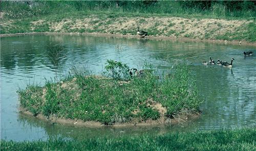
<instances>
[{"instance_id":1,"label":"narrow muddy strip along the far waterline of the pond","mask_svg":"<svg viewBox=\"0 0 256 151\"><path fill-rule=\"evenodd\" d=\"M2 37L14 37L14 36L26 36L26 35L84 35L84 36L104 36L104 37L122 37L122 38L136 38L140 39L138 35L121 35L121 34L110 34L110 33L58 33L58 32L32 32L32 33L15 33L15 34L0 34ZM215 39L195 39L186 37L175 37L175 36L147 36L146 39L150 40L175 40L185 42L208 42L217 44L232 44L232 45L248 45L256 46L256 42L248 42L244 40L215 40Z\"/></svg>"}]
</instances>

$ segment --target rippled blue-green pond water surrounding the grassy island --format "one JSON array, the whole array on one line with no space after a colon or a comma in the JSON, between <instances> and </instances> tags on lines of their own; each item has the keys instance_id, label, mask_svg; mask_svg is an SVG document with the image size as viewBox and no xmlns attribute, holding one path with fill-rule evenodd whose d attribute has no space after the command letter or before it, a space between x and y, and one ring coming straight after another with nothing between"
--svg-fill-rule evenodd
<instances>
[{"instance_id":1,"label":"rippled blue-green pond water surrounding the grassy island","mask_svg":"<svg viewBox=\"0 0 256 151\"><path fill-rule=\"evenodd\" d=\"M115 48L122 45L121 49ZM244 57L252 46L202 42L155 41L93 36L20 36L1 38L1 138L13 140L67 137L117 137L144 133L209 130L256 126L256 57ZM233 68L204 66L209 57L230 62ZM19 114L17 88L28 83L44 85L45 79L60 78L72 64L101 72L107 59L141 68L149 62L164 70L177 60L188 63L204 103L202 115L193 121L155 127L81 128L52 124Z\"/></svg>"}]
</instances>

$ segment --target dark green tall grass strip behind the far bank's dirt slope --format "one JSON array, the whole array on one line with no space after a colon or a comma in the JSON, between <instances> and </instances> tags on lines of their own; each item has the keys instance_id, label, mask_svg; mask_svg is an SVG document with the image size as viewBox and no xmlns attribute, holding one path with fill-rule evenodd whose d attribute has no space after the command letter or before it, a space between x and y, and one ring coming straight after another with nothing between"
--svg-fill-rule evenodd
<instances>
[{"instance_id":1,"label":"dark green tall grass strip behind the far bank's dirt slope","mask_svg":"<svg viewBox=\"0 0 256 151\"><path fill-rule=\"evenodd\" d=\"M172 15L210 18L255 18L253 1L31 1L2 3L7 18L27 18L49 14L75 13L80 15L109 13L114 15ZM129 14L127 14L129 13Z\"/></svg>"}]
</instances>

